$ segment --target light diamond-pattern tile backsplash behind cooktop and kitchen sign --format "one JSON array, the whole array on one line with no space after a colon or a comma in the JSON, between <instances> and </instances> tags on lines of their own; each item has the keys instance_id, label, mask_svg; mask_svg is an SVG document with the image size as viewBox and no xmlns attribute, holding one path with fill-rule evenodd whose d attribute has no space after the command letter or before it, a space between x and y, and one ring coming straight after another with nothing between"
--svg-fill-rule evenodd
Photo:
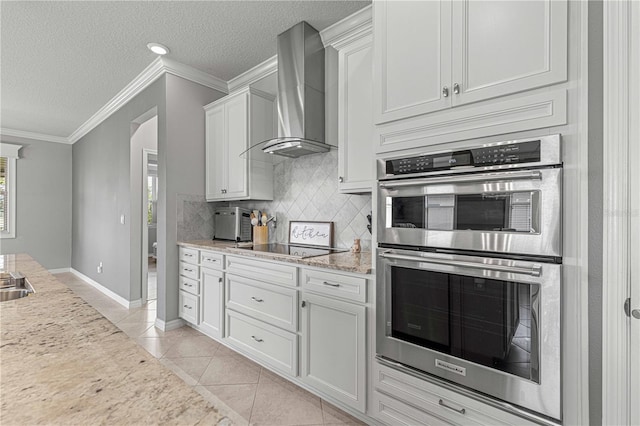
<instances>
[{"instance_id":1,"label":"light diamond-pattern tile backsplash behind cooktop and kitchen sign","mask_svg":"<svg viewBox=\"0 0 640 426\"><path fill-rule=\"evenodd\" d=\"M371 195L338 191L337 150L287 158L274 165L273 190L273 201L229 203L275 215L275 227L269 224L269 242L288 241L290 220L331 221L334 222L334 246L350 248L354 238L360 238L362 248L371 249L371 234L367 230Z\"/></svg>"}]
</instances>

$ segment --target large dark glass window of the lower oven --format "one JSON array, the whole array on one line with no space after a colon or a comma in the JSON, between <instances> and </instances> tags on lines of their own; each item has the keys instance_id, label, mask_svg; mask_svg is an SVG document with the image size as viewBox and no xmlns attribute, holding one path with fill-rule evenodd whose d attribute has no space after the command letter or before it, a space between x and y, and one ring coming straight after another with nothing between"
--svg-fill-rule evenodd
<instances>
[{"instance_id":1,"label":"large dark glass window of the lower oven","mask_svg":"<svg viewBox=\"0 0 640 426\"><path fill-rule=\"evenodd\" d=\"M538 381L537 285L391 268L391 334Z\"/></svg>"}]
</instances>

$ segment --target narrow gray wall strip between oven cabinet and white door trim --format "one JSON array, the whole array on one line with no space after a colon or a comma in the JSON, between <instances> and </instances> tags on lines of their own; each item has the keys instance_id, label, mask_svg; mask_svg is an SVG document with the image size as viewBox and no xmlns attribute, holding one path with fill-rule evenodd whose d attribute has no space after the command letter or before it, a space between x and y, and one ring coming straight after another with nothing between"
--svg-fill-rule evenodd
<instances>
[{"instance_id":1,"label":"narrow gray wall strip between oven cabinet and white door trim","mask_svg":"<svg viewBox=\"0 0 640 426\"><path fill-rule=\"evenodd\" d=\"M602 424L602 1L589 2L589 422Z\"/></svg>"}]
</instances>

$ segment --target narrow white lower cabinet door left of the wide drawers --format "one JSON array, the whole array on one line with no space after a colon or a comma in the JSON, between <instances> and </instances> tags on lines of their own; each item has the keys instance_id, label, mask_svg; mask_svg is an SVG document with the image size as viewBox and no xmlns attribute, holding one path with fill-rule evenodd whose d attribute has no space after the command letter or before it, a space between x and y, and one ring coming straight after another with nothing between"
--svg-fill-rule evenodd
<instances>
[{"instance_id":1,"label":"narrow white lower cabinet door left of the wide drawers","mask_svg":"<svg viewBox=\"0 0 640 426\"><path fill-rule=\"evenodd\" d=\"M202 321L200 327L209 336L221 339L224 330L224 284L221 271L202 268L200 273L200 300Z\"/></svg>"}]
</instances>

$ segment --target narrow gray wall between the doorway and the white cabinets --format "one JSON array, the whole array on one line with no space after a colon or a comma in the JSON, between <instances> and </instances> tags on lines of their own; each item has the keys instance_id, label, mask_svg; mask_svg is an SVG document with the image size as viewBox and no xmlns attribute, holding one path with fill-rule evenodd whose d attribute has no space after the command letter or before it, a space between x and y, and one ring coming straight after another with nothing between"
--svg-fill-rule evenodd
<instances>
[{"instance_id":1,"label":"narrow gray wall between the doorway and the white cabinets","mask_svg":"<svg viewBox=\"0 0 640 426\"><path fill-rule=\"evenodd\" d=\"M204 105L224 93L166 75L166 138L158 140L158 318L178 318L178 203L204 198Z\"/></svg>"}]
</instances>

